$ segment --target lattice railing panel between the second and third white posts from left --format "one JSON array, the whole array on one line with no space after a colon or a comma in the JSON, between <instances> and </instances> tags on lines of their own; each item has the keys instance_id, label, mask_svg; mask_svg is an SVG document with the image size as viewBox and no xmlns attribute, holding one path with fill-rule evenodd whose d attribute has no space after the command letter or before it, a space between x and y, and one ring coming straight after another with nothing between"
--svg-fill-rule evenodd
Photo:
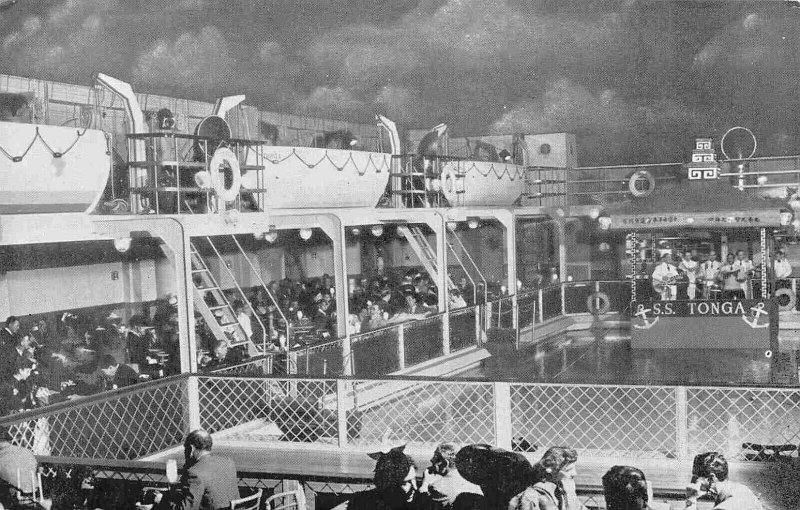
<instances>
[{"instance_id":1,"label":"lattice railing panel between the second and third white posts from left","mask_svg":"<svg viewBox=\"0 0 800 510\"><path fill-rule=\"evenodd\" d=\"M495 442L491 384L356 381L353 387L345 405L357 410L357 445Z\"/></svg>"}]
</instances>

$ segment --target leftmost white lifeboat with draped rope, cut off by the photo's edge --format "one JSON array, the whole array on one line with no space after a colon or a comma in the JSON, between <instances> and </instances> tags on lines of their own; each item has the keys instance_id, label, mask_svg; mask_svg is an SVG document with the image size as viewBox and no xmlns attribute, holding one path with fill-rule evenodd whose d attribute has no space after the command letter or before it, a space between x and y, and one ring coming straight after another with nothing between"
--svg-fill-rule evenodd
<instances>
[{"instance_id":1,"label":"leftmost white lifeboat with draped rope, cut off by the photo's edge","mask_svg":"<svg viewBox=\"0 0 800 510\"><path fill-rule=\"evenodd\" d=\"M102 131L0 122L0 214L91 211L110 172Z\"/></svg>"}]
</instances>

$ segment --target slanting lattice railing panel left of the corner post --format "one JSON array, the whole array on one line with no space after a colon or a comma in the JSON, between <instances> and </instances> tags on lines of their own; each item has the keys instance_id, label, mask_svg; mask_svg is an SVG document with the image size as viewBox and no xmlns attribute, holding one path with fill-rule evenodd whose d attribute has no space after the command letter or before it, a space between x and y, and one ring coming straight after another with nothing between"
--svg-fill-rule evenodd
<instances>
[{"instance_id":1,"label":"slanting lattice railing panel left of the corner post","mask_svg":"<svg viewBox=\"0 0 800 510\"><path fill-rule=\"evenodd\" d=\"M183 441L185 378L124 391L3 423L16 444L39 455L135 459Z\"/></svg>"}]
</instances>

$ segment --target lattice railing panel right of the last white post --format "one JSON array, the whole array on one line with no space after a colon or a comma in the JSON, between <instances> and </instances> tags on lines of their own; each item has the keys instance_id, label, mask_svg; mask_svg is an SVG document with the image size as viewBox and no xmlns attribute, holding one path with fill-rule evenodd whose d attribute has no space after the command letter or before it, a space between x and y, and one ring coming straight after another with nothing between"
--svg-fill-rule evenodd
<instances>
[{"instance_id":1,"label":"lattice railing panel right of the last white post","mask_svg":"<svg viewBox=\"0 0 800 510\"><path fill-rule=\"evenodd\" d=\"M759 460L764 452L742 444L800 443L800 394L781 389L688 388L687 420L690 454L719 451L730 459ZM787 453L797 456L796 450Z\"/></svg>"}]
</instances>

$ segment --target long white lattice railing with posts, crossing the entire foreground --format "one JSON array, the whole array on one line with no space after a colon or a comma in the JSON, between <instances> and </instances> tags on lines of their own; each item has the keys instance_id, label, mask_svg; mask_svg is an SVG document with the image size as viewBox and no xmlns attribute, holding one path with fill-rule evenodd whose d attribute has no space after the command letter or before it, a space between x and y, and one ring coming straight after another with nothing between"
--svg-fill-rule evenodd
<instances>
[{"instance_id":1,"label":"long white lattice railing with posts, crossing the entire foreground","mask_svg":"<svg viewBox=\"0 0 800 510\"><path fill-rule=\"evenodd\" d=\"M800 443L796 389L184 374L0 419L38 455L146 459L202 427L257 447L311 444L430 452L514 438L585 457L677 459L704 451L763 461L756 445ZM557 410L557 412L554 412ZM273 432L265 432L265 427ZM275 428L279 432L274 432ZM754 451L755 450L755 451ZM785 452L797 457L797 450ZM777 456L775 453L773 457ZM616 461L615 461L616 462ZM610 464L609 464L610 465Z\"/></svg>"}]
</instances>

